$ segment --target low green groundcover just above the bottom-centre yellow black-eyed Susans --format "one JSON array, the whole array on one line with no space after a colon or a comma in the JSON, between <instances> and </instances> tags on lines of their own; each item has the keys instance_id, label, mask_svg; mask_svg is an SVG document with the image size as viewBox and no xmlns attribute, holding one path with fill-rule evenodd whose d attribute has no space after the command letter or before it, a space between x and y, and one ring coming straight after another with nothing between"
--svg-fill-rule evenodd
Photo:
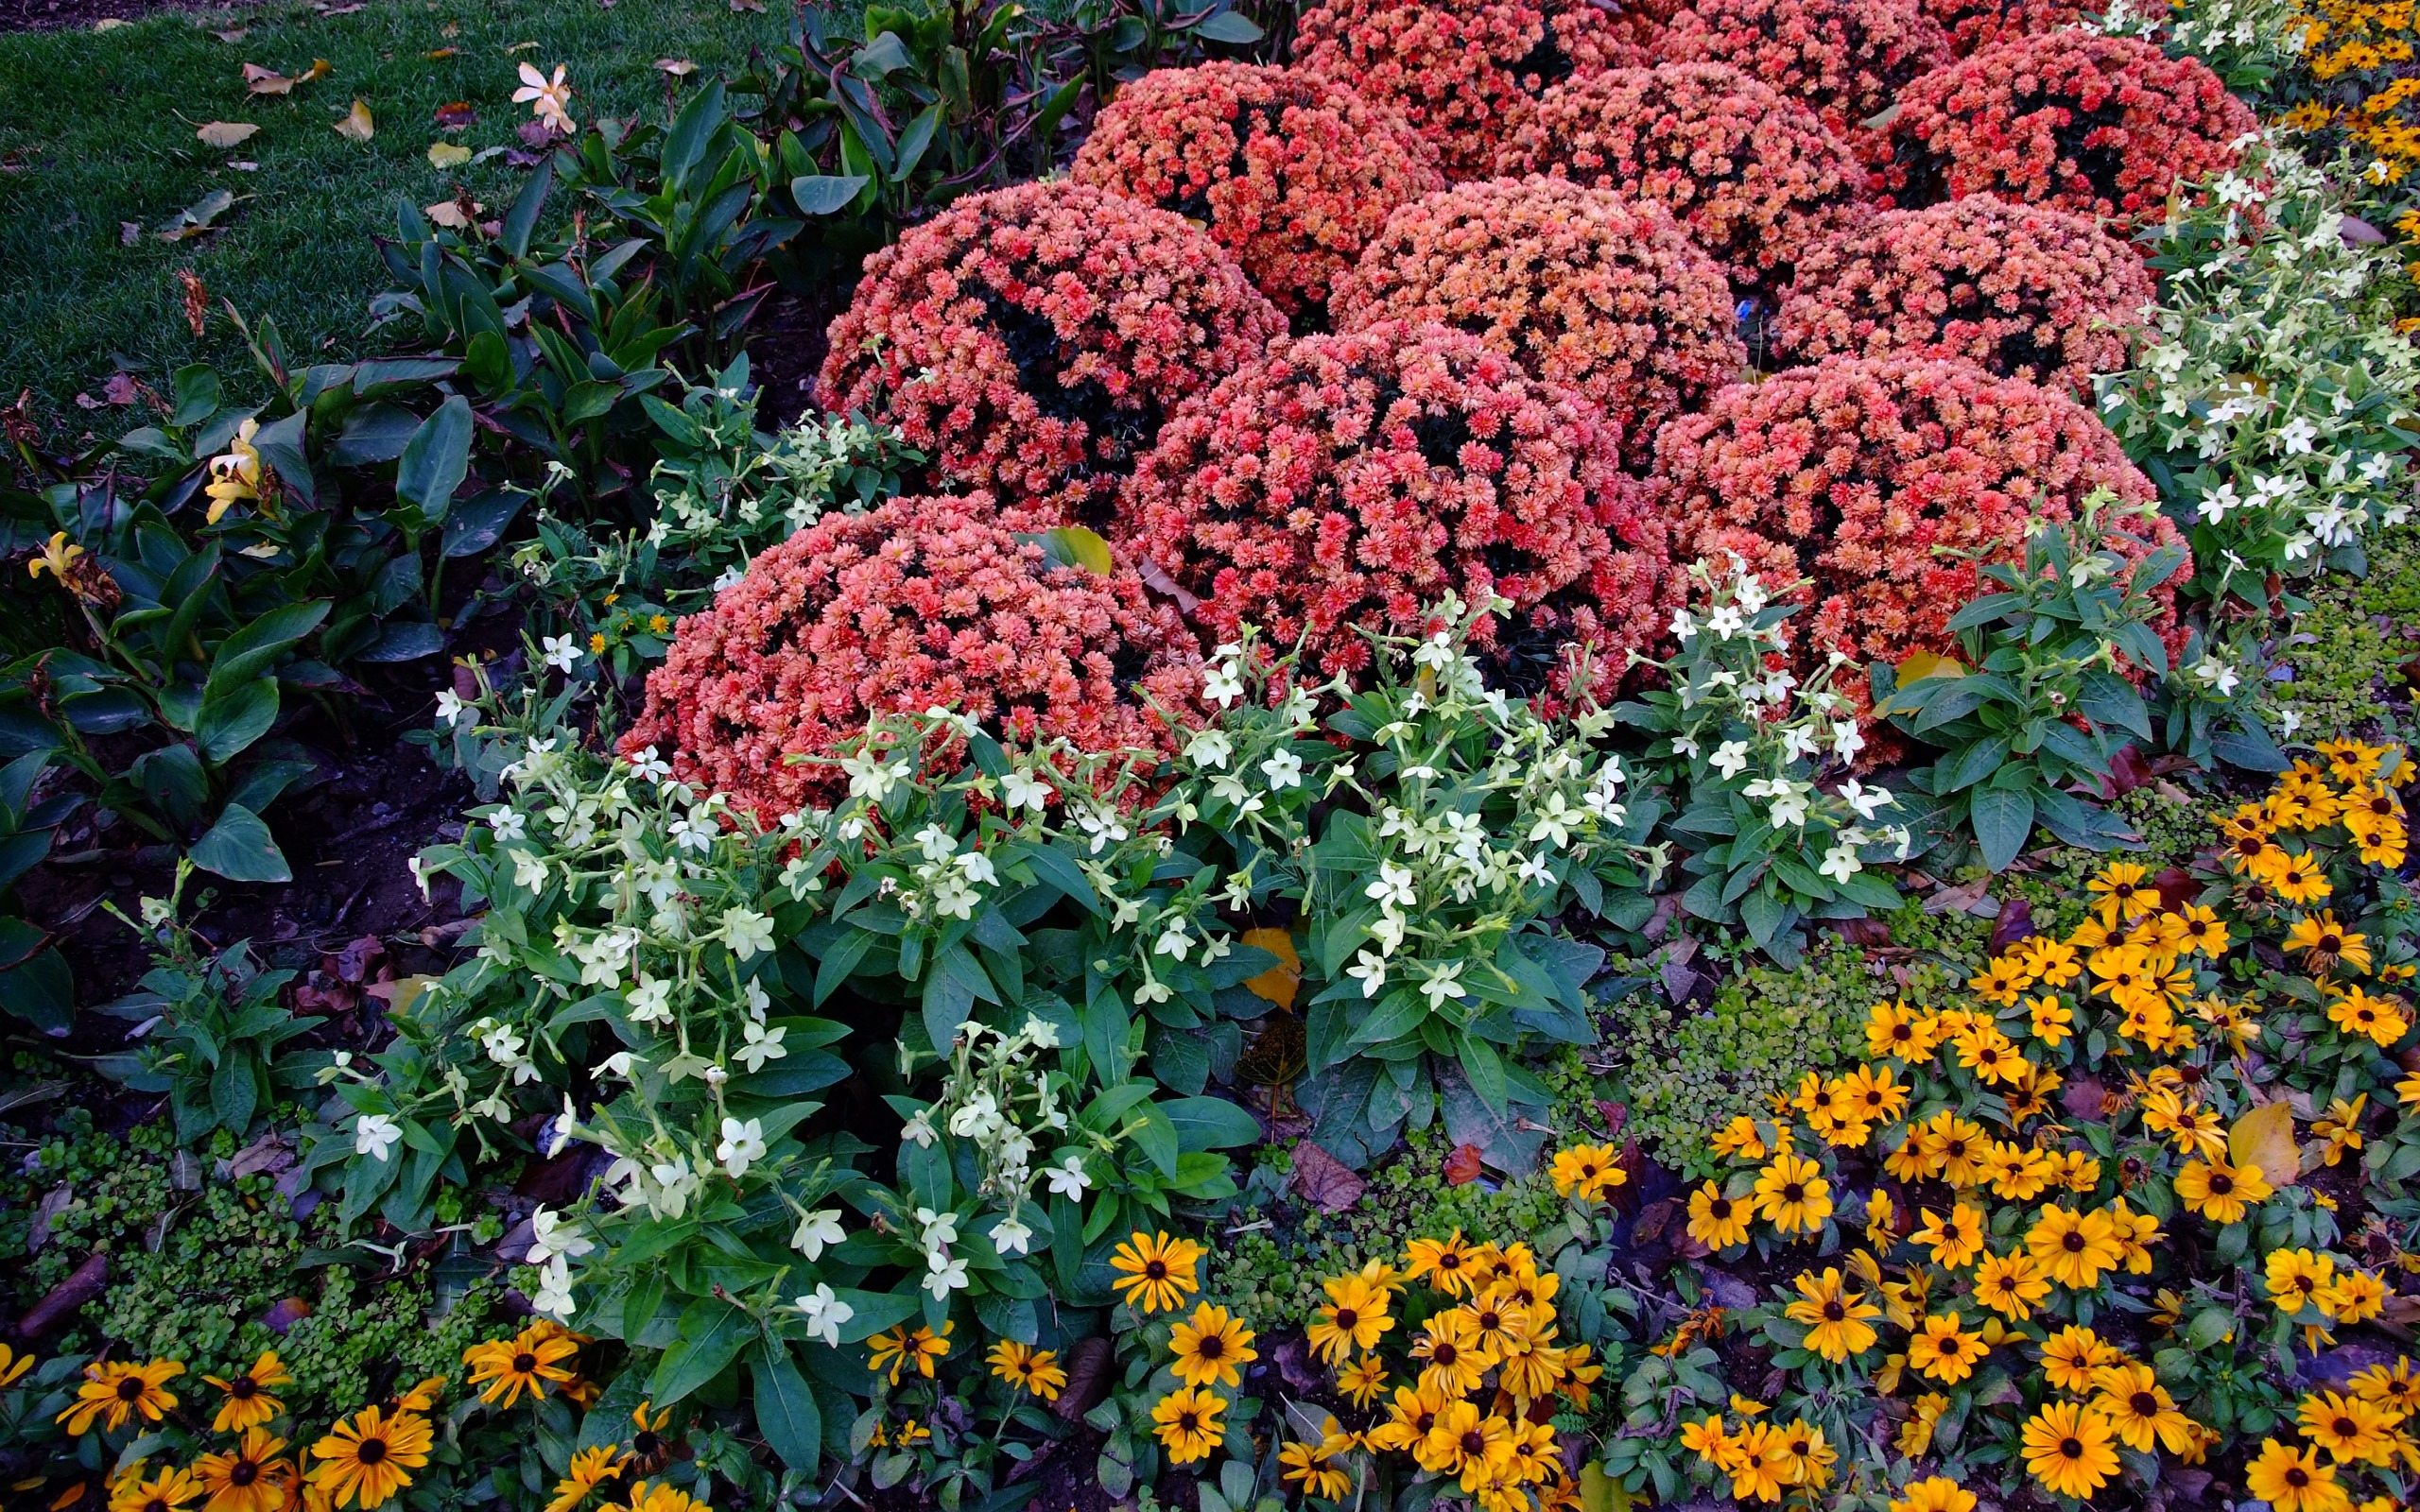
<instances>
[{"instance_id":1,"label":"low green groundcover just above the bottom-centre yellow black-eyed Susans","mask_svg":"<svg viewBox=\"0 0 2420 1512\"><path fill-rule=\"evenodd\" d=\"M1532 1243L1563 1217L1563 1200L1544 1171L1454 1185L1445 1178L1452 1152L1442 1127L1411 1130L1406 1149L1372 1166L1360 1202L1338 1214L1283 1195L1295 1168L1292 1149L1268 1152L1232 1217L1212 1224L1203 1297L1263 1333L1300 1328L1326 1302L1319 1282L1360 1270L1365 1260L1401 1263L1413 1239L1445 1239L1459 1229L1474 1243Z\"/></svg>"}]
</instances>

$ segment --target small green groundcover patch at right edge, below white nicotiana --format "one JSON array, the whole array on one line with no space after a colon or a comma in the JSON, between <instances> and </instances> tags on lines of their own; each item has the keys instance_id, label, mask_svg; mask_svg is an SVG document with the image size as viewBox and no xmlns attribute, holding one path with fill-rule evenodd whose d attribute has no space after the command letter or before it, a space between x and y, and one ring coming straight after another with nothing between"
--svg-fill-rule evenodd
<instances>
[{"instance_id":1,"label":"small green groundcover patch at right edge, below white nicotiana","mask_svg":"<svg viewBox=\"0 0 2420 1512\"><path fill-rule=\"evenodd\" d=\"M2384 723L2386 689L2403 680L2403 663L2420 656L2420 527L2379 532L2369 573L2330 576L2311 590L2311 607L2294 617L2294 639L2280 660L2294 668L2277 685L2277 704L2301 716L2301 735L2323 740Z\"/></svg>"}]
</instances>

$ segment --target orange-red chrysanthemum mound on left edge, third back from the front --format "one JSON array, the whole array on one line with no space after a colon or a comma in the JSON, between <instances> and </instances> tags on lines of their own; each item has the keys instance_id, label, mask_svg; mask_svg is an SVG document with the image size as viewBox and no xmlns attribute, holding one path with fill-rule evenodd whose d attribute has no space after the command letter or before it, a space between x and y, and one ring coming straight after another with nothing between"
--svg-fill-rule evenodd
<instances>
[{"instance_id":1,"label":"orange-red chrysanthemum mound on left edge, third back from the front","mask_svg":"<svg viewBox=\"0 0 2420 1512\"><path fill-rule=\"evenodd\" d=\"M1394 111L1295 68L1162 68L1118 90L1084 150L1094 184L1210 227L1287 314L1321 312L1387 210L1445 186Z\"/></svg>"}]
</instances>

